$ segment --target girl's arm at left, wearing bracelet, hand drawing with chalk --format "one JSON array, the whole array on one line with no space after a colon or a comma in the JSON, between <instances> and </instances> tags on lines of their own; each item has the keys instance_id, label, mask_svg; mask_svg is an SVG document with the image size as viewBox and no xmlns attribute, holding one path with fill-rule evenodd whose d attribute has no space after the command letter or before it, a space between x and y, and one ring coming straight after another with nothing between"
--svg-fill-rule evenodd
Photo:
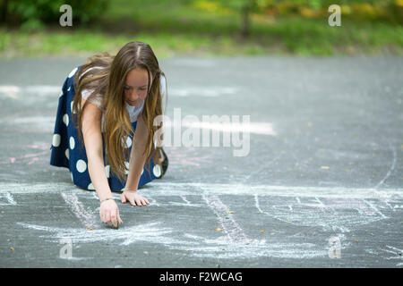
<instances>
[{"instance_id":1,"label":"girl's arm at left, wearing bracelet, hand drawing with chalk","mask_svg":"<svg viewBox=\"0 0 403 286\"><path fill-rule=\"evenodd\" d=\"M84 103L85 99L82 98L81 106ZM96 105L88 102L82 114L82 136L88 159L88 171L92 185L101 201L99 215L102 222L116 225L117 220L120 223L123 222L120 219L116 202L113 199L105 200L113 197L107 183L107 172L104 166L101 120L102 111Z\"/></svg>"}]
</instances>

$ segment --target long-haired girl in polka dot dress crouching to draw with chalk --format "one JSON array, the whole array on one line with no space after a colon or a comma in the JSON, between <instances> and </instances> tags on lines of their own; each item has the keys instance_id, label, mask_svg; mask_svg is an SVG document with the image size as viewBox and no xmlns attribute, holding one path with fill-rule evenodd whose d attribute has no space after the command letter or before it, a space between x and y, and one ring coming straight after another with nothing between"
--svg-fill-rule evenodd
<instances>
[{"instance_id":1,"label":"long-haired girl in polka dot dress crouching to draw with chalk","mask_svg":"<svg viewBox=\"0 0 403 286\"><path fill-rule=\"evenodd\" d=\"M137 189L167 171L167 155L153 140L166 90L156 56L139 41L116 56L90 57L64 81L50 164L69 168L76 186L97 191L103 223L123 223L111 191L123 191L122 203L147 206Z\"/></svg>"}]
</instances>

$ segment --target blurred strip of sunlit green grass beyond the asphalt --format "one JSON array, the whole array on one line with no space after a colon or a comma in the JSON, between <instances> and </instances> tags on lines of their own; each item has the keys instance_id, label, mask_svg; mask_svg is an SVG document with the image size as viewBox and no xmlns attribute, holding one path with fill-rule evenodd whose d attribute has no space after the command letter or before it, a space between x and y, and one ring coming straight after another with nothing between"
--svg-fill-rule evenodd
<instances>
[{"instance_id":1,"label":"blurred strip of sunlit green grass beyond the asphalt","mask_svg":"<svg viewBox=\"0 0 403 286\"><path fill-rule=\"evenodd\" d=\"M403 55L403 27L327 19L254 17L242 38L237 13L210 13L178 0L115 0L90 26L36 31L0 28L0 57L115 54L132 40L152 46L158 57L175 55Z\"/></svg>"}]
</instances>

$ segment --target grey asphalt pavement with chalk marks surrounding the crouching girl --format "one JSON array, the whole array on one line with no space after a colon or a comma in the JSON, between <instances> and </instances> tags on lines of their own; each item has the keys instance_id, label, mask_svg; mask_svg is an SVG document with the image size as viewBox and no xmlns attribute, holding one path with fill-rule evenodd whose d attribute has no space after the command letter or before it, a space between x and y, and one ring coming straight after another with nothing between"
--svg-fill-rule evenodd
<instances>
[{"instance_id":1,"label":"grey asphalt pavement with chalk marks surrounding the crouching girl","mask_svg":"<svg viewBox=\"0 0 403 286\"><path fill-rule=\"evenodd\" d=\"M84 61L0 61L0 267L403 266L402 57L160 60L181 128L119 230L49 164Z\"/></svg>"}]
</instances>

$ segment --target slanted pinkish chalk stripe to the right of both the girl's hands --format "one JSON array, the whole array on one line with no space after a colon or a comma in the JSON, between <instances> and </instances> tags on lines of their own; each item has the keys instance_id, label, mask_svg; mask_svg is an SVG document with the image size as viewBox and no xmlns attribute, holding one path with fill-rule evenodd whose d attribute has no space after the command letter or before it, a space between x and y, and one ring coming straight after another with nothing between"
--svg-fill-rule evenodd
<instances>
[{"instance_id":1,"label":"slanted pinkish chalk stripe to the right of both the girl's hands","mask_svg":"<svg viewBox=\"0 0 403 286\"><path fill-rule=\"evenodd\" d=\"M246 234L244 234L242 228L232 218L232 215L227 213L229 209L223 204L219 197L203 194L202 198L219 218L222 230L226 232L229 241L243 244L253 242L253 240L249 239Z\"/></svg>"}]
</instances>

